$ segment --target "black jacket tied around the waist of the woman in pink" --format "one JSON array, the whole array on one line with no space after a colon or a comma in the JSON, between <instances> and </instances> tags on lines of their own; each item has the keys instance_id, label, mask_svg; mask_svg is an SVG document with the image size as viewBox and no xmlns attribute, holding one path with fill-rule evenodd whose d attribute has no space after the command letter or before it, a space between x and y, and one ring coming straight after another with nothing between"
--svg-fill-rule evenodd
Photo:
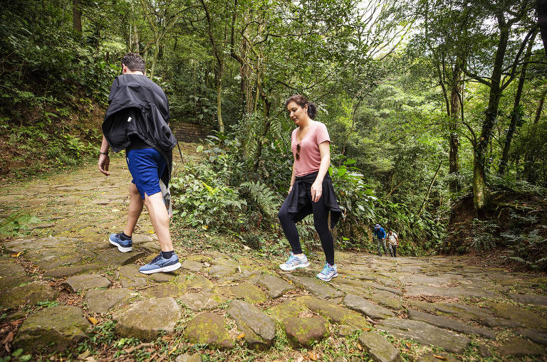
<instances>
[{"instance_id":1,"label":"black jacket tied around the waist of the woman in pink","mask_svg":"<svg viewBox=\"0 0 547 362\"><path fill-rule=\"evenodd\" d=\"M311 203L311 185L316 181L318 171L312 172L305 176L297 176L293 183L293 189L288 194L285 203L289 213L296 214L294 220L296 222L306 218L306 216L313 213ZM328 174L323 179L323 192L318 202L325 203L325 208L330 211L330 228L334 228L342 211L338 206L338 201L334 193L333 182Z\"/></svg>"}]
</instances>

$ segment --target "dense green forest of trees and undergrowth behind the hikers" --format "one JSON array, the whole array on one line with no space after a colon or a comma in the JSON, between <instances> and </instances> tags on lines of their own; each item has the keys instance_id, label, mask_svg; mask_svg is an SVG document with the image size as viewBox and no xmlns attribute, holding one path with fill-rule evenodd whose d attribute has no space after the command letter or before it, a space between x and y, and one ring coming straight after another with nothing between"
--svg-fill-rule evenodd
<instances>
[{"instance_id":1,"label":"dense green forest of trees and undergrowth behind the hikers","mask_svg":"<svg viewBox=\"0 0 547 362\"><path fill-rule=\"evenodd\" d=\"M400 234L403 255L509 247L514 260L547 266L547 57L535 1L29 0L2 9L1 176L95 156L119 60L138 52L167 92L170 122L215 134L198 149L203 161L179 165L172 180L179 225L258 249L283 244L276 211L294 128L283 102L302 93L330 132L340 247L371 248L370 225L381 223ZM313 223L300 228L313 246Z\"/></svg>"}]
</instances>

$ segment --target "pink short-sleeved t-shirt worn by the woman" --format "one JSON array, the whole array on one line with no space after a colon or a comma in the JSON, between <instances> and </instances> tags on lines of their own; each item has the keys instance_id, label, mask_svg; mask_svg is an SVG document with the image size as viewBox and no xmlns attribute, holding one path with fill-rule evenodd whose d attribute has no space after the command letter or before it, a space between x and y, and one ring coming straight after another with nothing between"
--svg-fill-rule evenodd
<instances>
[{"instance_id":1,"label":"pink short-sleeved t-shirt worn by the woman","mask_svg":"<svg viewBox=\"0 0 547 362\"><path fill-rule=\"evenodd\" d=\"M291 149L293 151L293 158L295 164L296 176L306 176L312 172L319 171L321 166L321 152L319 151L319 144L325 141L330 142L328 137L327 127L325 124L312 121L308 133L300 142L300 156L296 159L296 132L298 128L293 130L291 135Z\"/></svg>"}]
</instances>

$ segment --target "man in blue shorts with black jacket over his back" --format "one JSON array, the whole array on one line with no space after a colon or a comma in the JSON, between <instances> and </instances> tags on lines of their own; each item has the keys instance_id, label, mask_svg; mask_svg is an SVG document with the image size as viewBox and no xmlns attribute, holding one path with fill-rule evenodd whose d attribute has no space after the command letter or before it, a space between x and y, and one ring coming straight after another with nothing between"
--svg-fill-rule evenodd
<instances>
[{"instance_id":1,"label":"man in blue shorts with black jacket over his back","mask_svg":"<svg viewBox=\"0 0 547 362\"><path fill-rule=\"evenodd\" d=\"M99 171L110 175L108 148L125 149L127 167L132 176L129 186L129 214L125 229L110 235L110 243L120 252L132 250L132 233L142 206L146 205L162 251L152 262L140 267L144 274L171 272L180 267L169 233L169 215L160 180L169 184L172 149L177 140L169 128L169 106L162 88L145 76L145 62L137 53L122 58L122 75L115 78L108 97L110 107L103 121Z\"/></svg>"}]
</instances>

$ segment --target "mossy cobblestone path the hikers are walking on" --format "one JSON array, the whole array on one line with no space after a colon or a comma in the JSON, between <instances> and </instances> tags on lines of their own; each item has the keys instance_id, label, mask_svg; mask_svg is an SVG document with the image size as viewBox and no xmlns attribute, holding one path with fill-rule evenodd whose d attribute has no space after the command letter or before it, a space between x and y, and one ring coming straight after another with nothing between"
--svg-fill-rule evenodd
<instances>
[{"instance_id":1,"label":"mossy cobblestone path the hikers are walking on","mask_svg":"<svg viewBox=\"0 0 547 362\"><path fill-rule=\"evenodd\" d=\"M338 252L339 277L325 283L315 278L321 260L281 272L281 257L188 252L175 240L182 268L142 275L138 266L160 250L146 211L132 252L107 240L125 225L125 161L113 159L109 177L95 168L0 196L0 342L11 350L109 361L112 351L78 344L110 323L118 339L139 339L118 348L120 361L136 351L150 361L547 358L547 278L464 257Z\"/></svg>"}]
</instances>

